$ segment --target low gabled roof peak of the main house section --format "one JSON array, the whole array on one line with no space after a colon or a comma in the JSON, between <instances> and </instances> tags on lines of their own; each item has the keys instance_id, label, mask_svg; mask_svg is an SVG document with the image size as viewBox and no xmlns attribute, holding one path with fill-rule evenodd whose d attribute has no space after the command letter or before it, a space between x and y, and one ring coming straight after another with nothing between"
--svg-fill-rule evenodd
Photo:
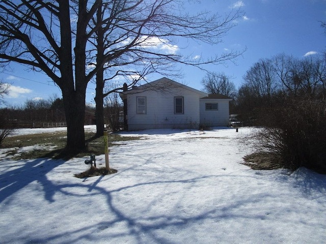
<instances>
[{"instance_id":1,"label":"low gabled roof peak of the main house section","mask_svg":"<svg viewBox=\"0 0 326 244\"><path fill-rule=\"evenodd\" d=\"M176 82L176 81L171 80L166 77L160 78L160 79L152 81L152 82L148 82L144 85L133 87L132 89L127 90L126 92L123 92L122 95L141 93L141 92L145 92L146 90L160 90L162 92L164 92L164 91L169 92L169 89L171 89L171 88L187 89L187 90L190 90L191 92L199 94L200 96L207 96L207 93L204 93L195 88L183 85L179 82Z\"/></svg>"}]
</instances>

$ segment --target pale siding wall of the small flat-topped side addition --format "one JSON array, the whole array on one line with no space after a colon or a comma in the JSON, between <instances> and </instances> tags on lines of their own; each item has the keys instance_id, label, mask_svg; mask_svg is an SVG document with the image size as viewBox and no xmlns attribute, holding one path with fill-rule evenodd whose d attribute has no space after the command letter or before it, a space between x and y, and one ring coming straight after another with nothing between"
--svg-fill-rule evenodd
<instances>
[{"instance_id":1,"label":"pale siding wall of the small flat-topped side addition","mask_svg":"<svg viewBox=\"0 0 326 244\"><path fill-rule=\"evenodd\" d=\"M205 110L205 103L218 103L218 110ZM201 99L200 124L208 127L229 125L228 99Z\"/></svg>"}]
</instances>

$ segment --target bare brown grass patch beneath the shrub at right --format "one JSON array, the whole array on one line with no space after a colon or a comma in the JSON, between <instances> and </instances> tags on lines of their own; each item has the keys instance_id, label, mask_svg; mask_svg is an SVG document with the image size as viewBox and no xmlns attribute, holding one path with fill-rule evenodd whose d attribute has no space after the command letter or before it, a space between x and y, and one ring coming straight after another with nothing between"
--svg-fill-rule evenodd
<instances>
[{"instance_id":1,"label":"bare brown grass patch beneath the shrub at right","mask_svg":"<svg viewBox=\"0 0 326 244\"><path fill-rule=\"evenodd\" d=\"M253 153L243 157L244 165L256 170L271 170L284 168L281 158L273 153Z\"/></svg>"}]
</instances>

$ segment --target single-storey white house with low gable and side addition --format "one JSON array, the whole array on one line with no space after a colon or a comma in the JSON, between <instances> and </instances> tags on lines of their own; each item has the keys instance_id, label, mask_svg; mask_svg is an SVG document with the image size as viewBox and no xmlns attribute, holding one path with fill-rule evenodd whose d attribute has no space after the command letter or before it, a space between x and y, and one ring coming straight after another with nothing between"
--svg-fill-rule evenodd
<instances>
[{"instance_id":1,"label":"single-storey white house with low gable and side addition","mask_svg":"<svg viewBox=\"0 0 326 244\"><path fill-rule=\"evenodd\" d=\"M220 94L201 92L168 78L123 92L128 130L227 126L229 101Z\"/></svg>"}]
</instances>

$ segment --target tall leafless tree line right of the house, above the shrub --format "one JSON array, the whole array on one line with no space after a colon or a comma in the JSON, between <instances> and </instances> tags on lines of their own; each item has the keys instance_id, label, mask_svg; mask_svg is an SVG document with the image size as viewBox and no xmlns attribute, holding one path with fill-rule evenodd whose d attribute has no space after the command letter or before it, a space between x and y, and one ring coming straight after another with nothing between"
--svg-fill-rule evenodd
<instances>
[{"instance_id":1,"label":"tall leafless tree line right of the house, above the shrub","mask_svg":"<svg viewBox=\"0 0 326 244\"><path fill-rule=\"evenodd\" d=\"M258 60L243 76L236 98L242 119L256 118L261 110L286 105L290 100L324 100L326 59L279 54ZM260 118L257 123L263 118Z\"/></svg>"}]
</instances>

